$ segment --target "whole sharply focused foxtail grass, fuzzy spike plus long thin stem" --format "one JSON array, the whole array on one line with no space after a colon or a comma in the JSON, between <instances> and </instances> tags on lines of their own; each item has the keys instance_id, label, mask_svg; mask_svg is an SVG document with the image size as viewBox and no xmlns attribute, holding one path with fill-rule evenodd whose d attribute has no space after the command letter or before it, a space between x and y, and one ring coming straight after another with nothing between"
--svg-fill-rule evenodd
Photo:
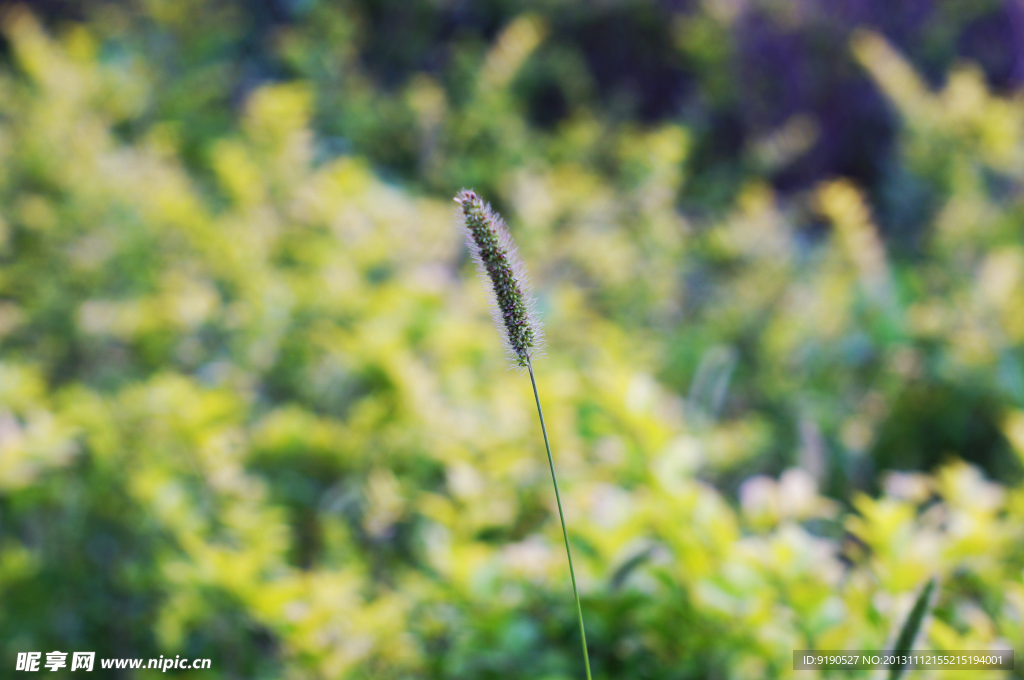
<instances>
[{"instance_id":1,"label":"whole sharply focused foxtail grass, fuzzy spike plus long thin stem","mask_svg":"<svg viewBox=\"0 0 1024 680\"><path fill-rule=\"evenodd\" d=\"M580 624L580 642L583 645L583 663L590 675L590 654L587 651L587 632L583 626L583 606L577 589L575 568L572 566L572 551L569 549L569 534L565 528L565 513L562 512L562 498L558 493L558 477L555 475L555 459L551 455L548 427L544 423L541 395L537 391L532 357L541 347L543 335L541 325L534 312L534 299L529 295L526 270L516 254L515 244L501 216L472 189L463 189L455 197L460 205L459 222L466 233L466 243L473 255L480 273L490 280L494 294L494 317L505 340L505 348L512 360L529 372L529 382L534 387L537 415L541 420L544 448L548 453L548 467L551 468L551 483L555 487L555 503L558 505L558 519L562 525L562 540L565 542L565 556L569 563L569 579L572 582L572 597L575 599L577 621Z\"/></svg>"}]
</instances>

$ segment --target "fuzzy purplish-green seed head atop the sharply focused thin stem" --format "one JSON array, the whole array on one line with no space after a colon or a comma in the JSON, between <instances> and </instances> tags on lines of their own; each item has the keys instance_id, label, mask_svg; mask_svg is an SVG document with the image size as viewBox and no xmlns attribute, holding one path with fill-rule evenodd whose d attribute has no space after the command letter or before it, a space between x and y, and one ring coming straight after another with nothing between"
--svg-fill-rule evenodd
<instances>
[{"instance_id":1,"label":"fuzzy purplish-green seed head atop the sharply focused thin stem","mask_svg":"<svg viewBox=\"0 0 1024 680\"><path fill-rule=\"evenodd\" d=\"M460 224L473 260L494 287L495 324L502 331L505 348L510 358L525 367L541 345L542 333L515 244L501 216L476 192L464 188L455 201L461 206Z\"/></svg>"}]
</instances>

